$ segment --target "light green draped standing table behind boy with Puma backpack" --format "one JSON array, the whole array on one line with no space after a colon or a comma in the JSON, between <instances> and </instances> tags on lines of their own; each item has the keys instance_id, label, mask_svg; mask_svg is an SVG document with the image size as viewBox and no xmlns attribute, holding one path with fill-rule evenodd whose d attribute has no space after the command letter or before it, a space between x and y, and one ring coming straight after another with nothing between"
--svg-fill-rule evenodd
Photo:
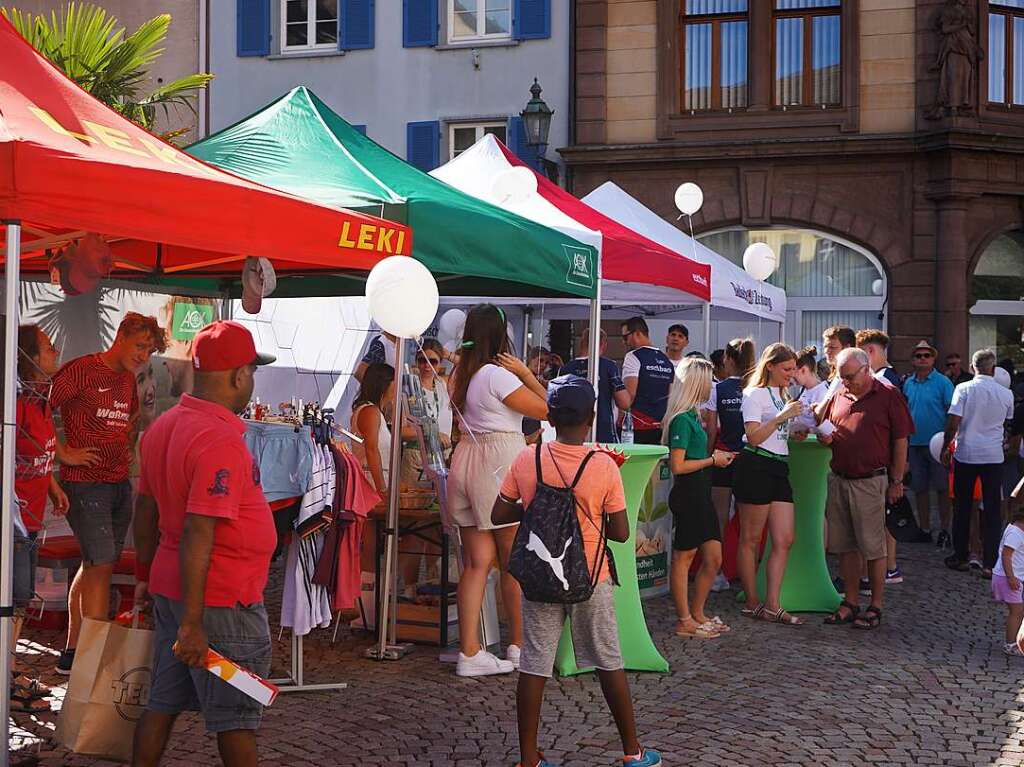
<instances>
[{"instance_id":1,"label":"light green draped standing table behind boy with Puma backpack","mask_svg":"<svg viewBox=\"0 0 1024 767\"><path fill-rule=\"evenodd\" d=\"M620 471L626 489L626 512L630 518L630 540L625 543L614 541L610 543L620 583L615 589L618 644L623 650L623 662L630 671L667 672L669 664L662 657L662 653L657 651L650 638L647 621L643 614L643 604L640 601L640 587L637 585L636 530L640 502L643 500L647 482L658 461L669 454L669 449L657 444L617 444L615 449L622 449L623 453L629 456L629 460L623 464ZM577 668L568 621L565 622L558 643L555 671L563 677L593 671L593 669Z\"/></svg>"}]
</instances>

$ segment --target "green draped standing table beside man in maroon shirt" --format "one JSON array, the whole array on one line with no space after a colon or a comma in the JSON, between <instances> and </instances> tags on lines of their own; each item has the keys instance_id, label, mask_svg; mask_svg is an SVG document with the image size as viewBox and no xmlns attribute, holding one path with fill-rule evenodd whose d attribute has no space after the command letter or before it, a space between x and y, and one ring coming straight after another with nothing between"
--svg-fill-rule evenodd
<instances>
[{"instance_id":1,"label":"green draped standing table beside man in maroon shirt","mask_svg":"<svg viewBox=\"0 0 1024 767\"><path fill-rule=\"evenodd\" d=\"M790 440L790 483L796 507L796 532L782 579L779 602L790 612L831 612L841 601L825 562L825 498L831 449L810 435L802 442ZM765 597L765 564L771 536L758 569L758 594Z\"/></svg>"}]
</instances>

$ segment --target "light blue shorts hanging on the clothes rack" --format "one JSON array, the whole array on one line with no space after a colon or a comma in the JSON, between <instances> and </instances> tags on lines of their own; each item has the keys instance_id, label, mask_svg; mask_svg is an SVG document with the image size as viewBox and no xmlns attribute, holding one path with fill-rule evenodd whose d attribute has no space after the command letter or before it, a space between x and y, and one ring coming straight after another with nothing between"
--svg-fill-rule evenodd
<instances>
[{"instance_id":1,"label":"light blue shorts hanging on the clothes rack","mask_svg":"<svg viewBox=\"0 0 1024 767\"><path fill-rule=\"evenodd\" d=\"M246 424L246 445L260 471L268 502L301 498L312 481L313 440L308 426Z\"/></svg>"}]
</instances>

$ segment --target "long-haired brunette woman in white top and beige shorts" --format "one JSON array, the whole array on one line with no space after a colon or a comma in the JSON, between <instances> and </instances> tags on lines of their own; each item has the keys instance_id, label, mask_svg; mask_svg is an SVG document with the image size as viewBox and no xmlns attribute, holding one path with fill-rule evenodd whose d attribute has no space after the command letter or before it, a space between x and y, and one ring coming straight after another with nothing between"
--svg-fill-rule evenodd
<instances>
[{"instance_id":1,"label":"long-haired brunette woman in white top and beige shorts","mask_svg":"<svg viewBox=\"0 0 1024 767\"><path fill-rule=\"evenodd\" d=\"M522 593L505 569L517 525L495 525L490 511L505 473L526 446L523 417L546 420L548 403L544 386L510 353L511 348L504 311L492 304L470 309L462 353L449 382L461 431L447 480L447 510L459 526L463 554L459 676L508 674L518 666L522 646ZM487 652L480 642L480 609L496 558L511 634L506 661Z\"/></svg>"}]
</instances>

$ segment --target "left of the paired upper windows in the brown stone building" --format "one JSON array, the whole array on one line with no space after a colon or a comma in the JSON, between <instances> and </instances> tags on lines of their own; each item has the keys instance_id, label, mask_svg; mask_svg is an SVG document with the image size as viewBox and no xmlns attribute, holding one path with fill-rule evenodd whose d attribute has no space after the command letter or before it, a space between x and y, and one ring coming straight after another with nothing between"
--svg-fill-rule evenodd
<instances>
[{"instance_id":1,"label":"left of the paired upper windows in the brown stone building","mask_svg":"<svg viewBox=\"0 0 1024 767\"><path fill-rule=\"evenodd\" d=\"M682 14L684 112L746 106L746 0L686 0Z\"/></svg>"}]
</instances>

